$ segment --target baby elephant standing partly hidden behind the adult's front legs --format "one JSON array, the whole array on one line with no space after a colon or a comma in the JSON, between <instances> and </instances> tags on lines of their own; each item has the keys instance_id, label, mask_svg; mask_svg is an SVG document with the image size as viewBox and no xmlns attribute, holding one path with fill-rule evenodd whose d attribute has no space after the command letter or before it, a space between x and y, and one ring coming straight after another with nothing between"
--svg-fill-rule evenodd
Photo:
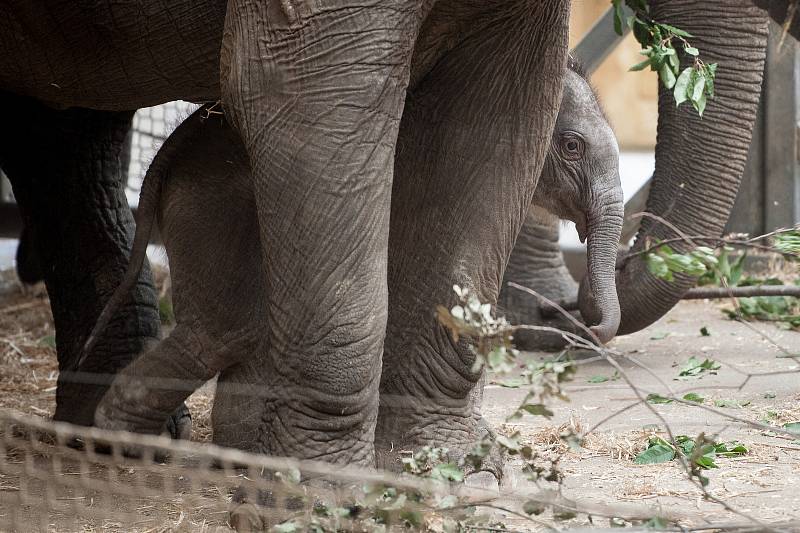
<instances>
[{"instance_id":1,"label":"baby elephant standing partly hidden behind the adult's front legs","mask_svg":"<svg viewBox=\"0 0 800 533\"><path fill-rule=\"evenodd\" d=\"M608 231L616 227L618 239L622 195L616 141L583 77L573 69L565 79L562 111L534 204L573 220L582 237L588 233L590 239L602 231L596 227L602 225L600 216L616 217L619 224ZM596 212L598 205L605 206L603 213ZM101 315L87 353L138 279L155 216L169 256L177 326L118 376L95 422L109 429L156 433L163 419L141 413L164 413L166 418L219 372L214 441L262 451L261 441L269 434L262 421L270 418L266 410L275 400L269 395L281 385L264 383L263 376L281 375L264 355L265 346L280 339L266 338L268 288L263 280L268 277L246 151L213 106L204 106L184 121L148 169L131 265ZM613 258L609 265L614 268ZM610 294L616 295L613 287ZM612 322L614 318L609 317Z\"/></svg>"}]
</instances>

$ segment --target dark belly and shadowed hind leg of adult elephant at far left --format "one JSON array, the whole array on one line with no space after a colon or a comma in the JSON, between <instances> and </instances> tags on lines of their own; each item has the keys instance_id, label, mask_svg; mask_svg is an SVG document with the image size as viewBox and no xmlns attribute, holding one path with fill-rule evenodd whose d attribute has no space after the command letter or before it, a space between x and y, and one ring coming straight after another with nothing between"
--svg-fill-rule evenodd
<instances>
[{"instance_id":1,"label":"dark belly and shadowed hind leg of adult elephant at far left","mask_svg":"<svg viewBox=\"0 0 800 533\"><path fill-rule=\"evenodd\" d=\"M92 424L113 376L160 337L145 267L94 353L82 347L133 238L124 144L135 109L219 95L225 1L0 5L0 167L12 182L56 327L55 419ZM124 21L124 22L120 22ZM209 23L210 21L210 23ZM182 38L185 37L185 38ZM169 73L167 75L167 73ZM35 263L38 262L38 265ZM39 272L35 272L39 270ZM169 420L185 434L188 412Z\"/></svg>"}]
</instances>

